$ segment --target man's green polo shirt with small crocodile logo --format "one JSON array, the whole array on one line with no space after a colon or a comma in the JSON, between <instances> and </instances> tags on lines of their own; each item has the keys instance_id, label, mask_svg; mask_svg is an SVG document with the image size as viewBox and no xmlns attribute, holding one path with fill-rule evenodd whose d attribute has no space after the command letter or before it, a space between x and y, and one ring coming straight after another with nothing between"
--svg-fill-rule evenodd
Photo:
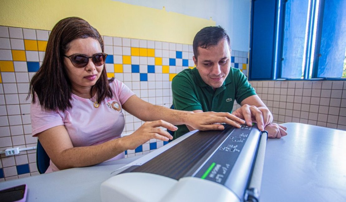
<instances>
[{"instance_id":1,"label":"man's green polo shirt with small crocodile logo","mask_svg":"<svg viewBox=\"0 0 346 202\"><path fill-rule=\"evenodd\" d=\"M215 90L204 83L196 68L185 69L173 78L172 93L174 109L229 113L232 113L234 100L241 103L245 98L256 94L245 75L235 68L230 68L224 84ZM189 132L186 125L177 127L174 139Z\"/></svg>"}]
</instances>

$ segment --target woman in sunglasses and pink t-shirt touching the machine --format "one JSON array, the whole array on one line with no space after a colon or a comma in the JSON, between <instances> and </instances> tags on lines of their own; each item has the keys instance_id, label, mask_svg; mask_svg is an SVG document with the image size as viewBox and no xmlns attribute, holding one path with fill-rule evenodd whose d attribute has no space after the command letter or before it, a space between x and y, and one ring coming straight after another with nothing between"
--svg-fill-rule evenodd
<instances>
[{"instance_id":1,"label":"woman in sunglasses and pink t-shirt touching the machine","mask_svg":"<svg viewBox=\"0 0 346 202\"><path fill-rule=\"evenodd\" d=\"M107 79L103 47L99 32L77 17L60 20L49 36L29 91L33 136L51 158L46 172L120 159L125 150L150 139L172 139L158 127L175 131L174 125L188 124L222 130L222 125L213 123L235 127L244 123L229 113L177 111L141 100L122 82ZM148 122L121 138L123 110Z\"/></svg>"}]
</instances>

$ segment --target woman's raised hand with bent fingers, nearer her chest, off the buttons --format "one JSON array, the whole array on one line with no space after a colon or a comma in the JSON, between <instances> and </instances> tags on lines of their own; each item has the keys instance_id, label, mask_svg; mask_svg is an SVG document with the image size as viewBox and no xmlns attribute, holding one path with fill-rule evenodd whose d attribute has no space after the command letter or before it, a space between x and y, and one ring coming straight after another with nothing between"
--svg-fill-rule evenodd
<instances>
[{"instance_id":1,"label":"woman's raised hand with bent fingers, nearer her chest, off the buttons","mask_svg":"<svg viewBox=\"0 0 346 202\"><path fill-rule=\"evenodd\" d=\"M147 121L134 133L120 138L119 140L121 140L121 145L124 146L124 150L133 150L151 139L162 141L172 140L172 135L158 127L167 128L171 131L176 131L178 129L175 125L163 120Z\"/></svg>"}]
</instances>

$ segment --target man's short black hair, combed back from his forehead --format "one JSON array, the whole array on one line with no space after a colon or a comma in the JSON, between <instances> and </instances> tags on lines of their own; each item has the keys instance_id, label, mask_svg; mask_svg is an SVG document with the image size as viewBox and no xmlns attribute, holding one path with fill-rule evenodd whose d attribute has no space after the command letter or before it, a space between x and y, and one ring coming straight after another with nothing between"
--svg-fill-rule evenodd
<instances>
[{"instance_id":1,"label":"man's short black hair, combed back from his forehead","mask_svg":"<svg viewBox=\"0 0 346 202\"><path fill-rule=\"evenodd\" d=\"M193 39L192 47L195 58L197 59L198 56L198 47L216 46L222 39L226 39L228 46L231 47L229 36L221 26L210 26L201 29Z\"/></svg>"}]
</instances>

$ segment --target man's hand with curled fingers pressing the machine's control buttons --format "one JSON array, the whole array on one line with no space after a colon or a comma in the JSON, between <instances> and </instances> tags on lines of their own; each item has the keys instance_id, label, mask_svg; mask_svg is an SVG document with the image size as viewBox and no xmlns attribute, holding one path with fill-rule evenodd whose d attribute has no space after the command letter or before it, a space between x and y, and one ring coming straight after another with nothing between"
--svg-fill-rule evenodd
<instances>
[{"instance_id":1,"label":"man's hand with curled fingers pressing the machine's control buttons","mask_svg":"<svg viewBox=\"0 0 346 202\"><path fill-rule=\"evenodd\" d=\"M266 107L244 104L232 114L240 119L244 119L248 126L252 126L252 122L256 122L258 129L261 131L273 121L273 115Z\"/></svg>"}]
</instances>

